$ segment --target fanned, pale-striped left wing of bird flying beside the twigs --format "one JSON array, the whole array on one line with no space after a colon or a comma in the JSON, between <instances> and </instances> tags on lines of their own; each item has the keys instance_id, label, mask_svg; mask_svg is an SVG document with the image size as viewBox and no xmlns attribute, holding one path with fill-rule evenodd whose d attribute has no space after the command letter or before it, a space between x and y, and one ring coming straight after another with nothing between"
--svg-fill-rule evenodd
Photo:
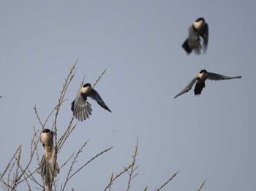
<instances>
[{"instance_id":1,"label":"fanned, pale-striped left wing of bird flying beside the twigs","mask_svg":"<svg viewBox=\"0 0 256 191\"><path fill-rule=\"evenodd\" d=\"M72 102L71 110L79 121L89 118L92 111L91 104L86 101L86 97L83 97L83 94L80 92L78 92L77 98Z\"/></svg>"}]
</instances>

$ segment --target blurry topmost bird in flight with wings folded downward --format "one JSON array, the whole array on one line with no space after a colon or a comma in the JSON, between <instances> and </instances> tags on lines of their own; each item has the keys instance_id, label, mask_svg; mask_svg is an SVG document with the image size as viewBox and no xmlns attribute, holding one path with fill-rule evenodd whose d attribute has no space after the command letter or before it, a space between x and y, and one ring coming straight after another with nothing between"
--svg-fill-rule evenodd
<instances>
[{"instance_id":1,"label":"blurry topmost bird in flight with wings folded downward","mask_svg":"<svg viewBox=\"0 0 256 191\"><path fill-rule=\"evenodd\" d=\"M192 50L194 50L195 54L200 55L202 44L200 44L200 37L203 39L203 53L206 53L207 45L208 45L208 24L204 20L203 17L195 20L195 23L189 26L189 36L182 44L182 47L189 55Z\"/></svg>"}]
</instances>

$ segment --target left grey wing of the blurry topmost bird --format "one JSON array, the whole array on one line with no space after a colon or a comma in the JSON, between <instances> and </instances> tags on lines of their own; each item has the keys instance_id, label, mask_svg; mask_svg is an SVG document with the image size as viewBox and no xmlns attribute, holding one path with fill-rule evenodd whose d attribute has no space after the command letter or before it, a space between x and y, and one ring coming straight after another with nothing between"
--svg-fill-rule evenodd
<instances>
[{"instance_id":1,"label":"left grey wing of the blurry topmost bird","mask_svg":"<svg viewBox=\"0 0 256 191\"><path fill-rule=\"evenodd\" d=\"M195 27L193 25L189 26L189 37L188 37L188 44L189 47L195 51L197 55L201 52L201 44L200 44L200 38L197 35L197 32L195 31Z\"/></svg>"}]
</instances>

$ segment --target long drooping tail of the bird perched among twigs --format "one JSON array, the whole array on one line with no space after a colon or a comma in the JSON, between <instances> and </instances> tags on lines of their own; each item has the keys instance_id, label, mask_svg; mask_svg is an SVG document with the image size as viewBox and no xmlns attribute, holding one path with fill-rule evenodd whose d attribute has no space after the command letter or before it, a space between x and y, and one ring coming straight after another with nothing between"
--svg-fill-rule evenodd
<instances>
[{"instance_id":1,"label":"long drooping tail of the bird perched among twigs","mask_svg":"<svg viewBox=\"0 0 256 191\"><path fill-rule=\"evenodd\" d=\"M53 182L53 177L59 174L59 165L56 163L56 157L53 152L48 153L45 151L42 156L40 171L45 179L45 184L49 186Z\"/></svg>"}]
</instances>

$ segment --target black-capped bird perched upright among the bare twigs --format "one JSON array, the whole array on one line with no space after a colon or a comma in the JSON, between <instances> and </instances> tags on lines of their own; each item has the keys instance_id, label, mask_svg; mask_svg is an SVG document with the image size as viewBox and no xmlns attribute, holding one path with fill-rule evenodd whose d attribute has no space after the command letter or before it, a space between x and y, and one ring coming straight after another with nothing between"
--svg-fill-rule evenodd
<instances>
[{"instance_id":1,"label":"black-capped bird perched upright among the bare twigs","mask_svg":"<svg viewBox=\"0 0 256 191\"><path fill-rule=\"evenodd\" d=\"M48 186L53 182L53 177L59 174L59 165L56 163L56 155L53 150L54 132L47 128L42 130L40 142L44 147L44 155L40 164L40 173Z\"/></svg>"}]
</instances>

